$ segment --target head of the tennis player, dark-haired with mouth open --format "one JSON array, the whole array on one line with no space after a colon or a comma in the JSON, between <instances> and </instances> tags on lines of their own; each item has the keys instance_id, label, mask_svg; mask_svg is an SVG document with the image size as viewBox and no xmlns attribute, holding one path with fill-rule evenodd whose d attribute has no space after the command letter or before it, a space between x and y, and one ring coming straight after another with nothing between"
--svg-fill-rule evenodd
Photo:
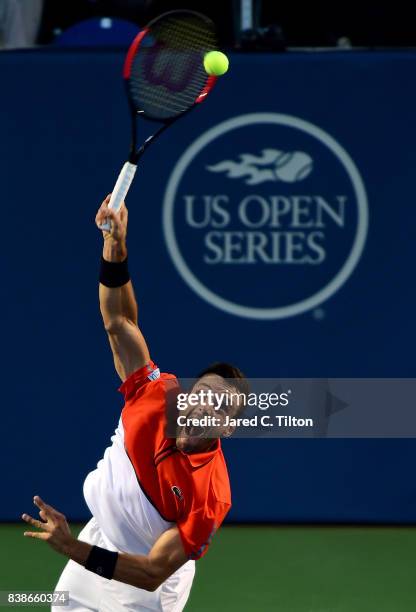
<instances>
[{"instance_id":1,"label":"head of the tennis player, dark-haired with mouth open","mask_svg":"<svg viewBox=\"0 0 416 612\"><path fill-rule=\"evenodd\" d=\"M229 421L241 415L248 393L247 379L236 366L216 362L205 368L189 392L183 413L187 424L178 430L177 447L188 453L203 452L217 438L231 436L235 426Z\"/></svg>"}]
</instances>

